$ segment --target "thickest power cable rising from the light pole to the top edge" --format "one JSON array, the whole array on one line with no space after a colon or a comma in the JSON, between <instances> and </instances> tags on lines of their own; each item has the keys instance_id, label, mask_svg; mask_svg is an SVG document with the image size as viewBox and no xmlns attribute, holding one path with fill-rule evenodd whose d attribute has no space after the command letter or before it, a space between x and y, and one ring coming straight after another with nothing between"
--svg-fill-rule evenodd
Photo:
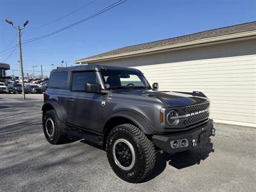
<instances>
[{"instance_id":1,"label":"thickest power cable rising from the light pole to the top edge","mask_svg":"<svg viewBox=\"0 0 256 192\"><path fill-rule=\"evenodd\" d=\"M42 36L38 36L38 37L31 38L31 39L28 39L28 40L24 40L24 42L22 42L22 43L23 44L28 44L30 42L33 42L33 41L36 41L36 40L40 40L42 38L46 38L47 36L51 36L51 35L54 35L56 33L60 33L61 31L64 31L64 30L66 30L68 28L72 28L73 26L76 26L77 24L81 24L82 22L85 22L86 20L92 19L93 17L96 17L97 15L100 15L100 14L102 14L104 12L107 12L108 10L111 10L112 8L115 8L119 4L125 3L125 1L127 1L127 0L116 1L116 3L113 3L113 4L109 5L109 6L107 6L106 8L100 10L99 12L93 13L89 17L86 17L86 18L84 18L82 20L74 22L73 24L70 24L69 26L66 26L65 28L58 29L57 31L53 31L53 32L48 33L46 35L42 35Z\"/></svg>"}]
</instances>

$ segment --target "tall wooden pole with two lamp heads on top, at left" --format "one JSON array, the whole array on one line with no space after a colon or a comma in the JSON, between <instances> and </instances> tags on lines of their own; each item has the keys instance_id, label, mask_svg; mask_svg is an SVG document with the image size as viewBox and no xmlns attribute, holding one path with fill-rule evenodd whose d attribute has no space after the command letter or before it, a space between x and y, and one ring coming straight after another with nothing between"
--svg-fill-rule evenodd
<instances>
[{"instance_id":1,"label":"tall wooden pole with two lamp heads on top, at left","mask_svg":"<svg viewBox=\"0 0 256 192\"><path fill-rule=\"evenodd\" d=\"M24 74L23 74L23 63L22 63L20 31L26 27L26 25L28 24L29 21L26 20L26 22L24 22L24 24L23 24L23 28L21 28L21 29L20 29L20 26L18 26L18 28L15 28L15 26L13 26L12 20L7 20L6 19L5 21L8 22L8 24L11 24L12 27L18 31L19 54L20 54L20 76L21 76L21 84L22 84L22 98L23 98L23 100L25 100L26 98L25 98L25 86L24 86Z\"/></svg>"}]
</instances>

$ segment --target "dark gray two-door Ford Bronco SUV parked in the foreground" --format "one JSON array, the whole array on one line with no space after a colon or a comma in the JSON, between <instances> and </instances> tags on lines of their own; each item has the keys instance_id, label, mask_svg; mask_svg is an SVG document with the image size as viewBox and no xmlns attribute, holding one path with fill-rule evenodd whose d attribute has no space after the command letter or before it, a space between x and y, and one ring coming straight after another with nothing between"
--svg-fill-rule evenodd
<instances>
[{"instance_id":1,"label":"dark gray two-door Ford Bronco SUV parked in the foreground","mask_svg":"<svg viewBox=\"0 0 256 192\"><path fill-rule=\"evenodd\" d=\"M52 70L42 123L49 143L79 131L106 150L118 177L140 182L157 151L184 152L214 136L209 104L201 92L160 92L134 68L80 65Z\"/></svg>"}]
</instances>

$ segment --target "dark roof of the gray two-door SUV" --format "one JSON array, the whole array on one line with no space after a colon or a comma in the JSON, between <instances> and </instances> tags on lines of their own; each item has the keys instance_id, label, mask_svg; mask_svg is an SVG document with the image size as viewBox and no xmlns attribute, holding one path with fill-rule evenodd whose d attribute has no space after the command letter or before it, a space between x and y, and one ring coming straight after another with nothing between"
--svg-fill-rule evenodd
<instances>
[{"instance_id":1,"label":"dark roof of the gray two-door SUV","mask_svg":"<svg viewBox=\"0 0 256 192\"><path fill-rule=\"evenodd\" d=\"M55 68L52 70L52 72L60 72L60 71L86 71L86 70L94 70L94 71L100 71L100 70L132 70L132 71L138 71L140 70L136 68L128 68L128 67L116 67L116 66L106 66L106 65L77 65L73 67L63 67L63 68Z\"/></svg>"}]
</instances>

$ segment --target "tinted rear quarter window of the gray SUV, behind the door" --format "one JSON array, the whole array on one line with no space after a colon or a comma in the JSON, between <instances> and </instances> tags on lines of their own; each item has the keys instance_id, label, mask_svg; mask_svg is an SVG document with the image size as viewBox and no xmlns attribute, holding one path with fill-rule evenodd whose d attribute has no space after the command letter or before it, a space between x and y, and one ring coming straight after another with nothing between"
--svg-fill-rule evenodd
<instances>
[{"instance_id":1,"label":"tinted rear quarter window of the gray SUV, behind the door","mask_svg":"<svg viewBox=\"0 0 256 192\"><path fill-rule=\"evenodd\" d=\"M68 72L52 72L49 80L49 87L67 88Z\"/></svg>"}]
</instances>

